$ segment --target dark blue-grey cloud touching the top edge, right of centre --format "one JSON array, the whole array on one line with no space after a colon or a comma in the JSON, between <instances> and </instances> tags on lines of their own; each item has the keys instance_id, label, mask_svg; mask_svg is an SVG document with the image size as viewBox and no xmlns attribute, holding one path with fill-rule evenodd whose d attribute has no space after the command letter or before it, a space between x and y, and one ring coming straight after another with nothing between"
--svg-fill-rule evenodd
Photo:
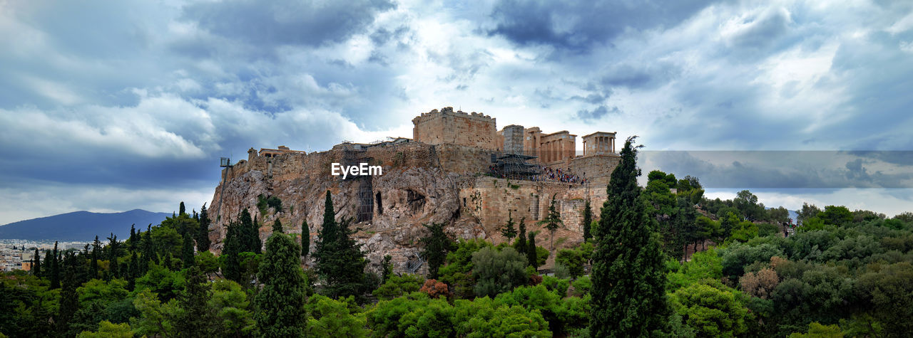
<instances>
[{"instance_id":1,"label":"dark blue-grey cloud touching the top edge, right of centre","mask_svg":"<svg viewBox=\"0 0 913 338\"><path fill-rule=\"evenodd\" d=\"M500 0L488 35L504 36L520 46L546 45L588 52L610 45L625 29L676 26L711 1L565 2Z\"/></svg>"}]
</instances>

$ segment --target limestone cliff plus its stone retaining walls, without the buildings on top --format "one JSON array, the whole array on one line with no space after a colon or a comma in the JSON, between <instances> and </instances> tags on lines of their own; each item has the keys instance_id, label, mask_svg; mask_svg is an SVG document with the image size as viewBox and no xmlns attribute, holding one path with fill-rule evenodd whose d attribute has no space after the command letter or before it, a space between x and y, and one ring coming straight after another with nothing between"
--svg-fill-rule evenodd
<instances>
[{"instance_id":1,"label":"limestone cliff plus its stone retaining walls, without the buildings on top","mask_svg":"<svg viewBox=\"0 0 913 338\"><path fill-rule=\"evenodd\" d=\"M424 224L443 223L453 239L506 241L499 233L508 220L526 220L527 229L539 230L537 243L550 247L551 233L538 224L548 212L551 199L561 212L564 225L555 232L555 247L582 241L582 206L592 200L593 214L605 200L599 184L569 184L557 181L496 179L482 175L491 164L486 149L456 145L402 144L358 145L343 143L323 152L278 152L258 156L251 149L248 159L225 169L223 182L215 188L208 206L212 251L222 251L226 226L247 209L256 217L260 239L266 241L272 224L279 220L286 233L310 238L319 236L324 198L330 190L336 219L350 219L353 237L362 244L380 271L383 256L393 257L396 272L424 272L420 241L428 231ZM383 174L370 178L342 179L331 175L331 164L368 163ZM595 162L594 162L595 163ZM282 201L280 210L257 208L260 196ZM307 220L308 228L301 224ZM308 236L301 236L306 234ZM309 258L302 261L312 265Z\"/></svg>"}]
</instances>

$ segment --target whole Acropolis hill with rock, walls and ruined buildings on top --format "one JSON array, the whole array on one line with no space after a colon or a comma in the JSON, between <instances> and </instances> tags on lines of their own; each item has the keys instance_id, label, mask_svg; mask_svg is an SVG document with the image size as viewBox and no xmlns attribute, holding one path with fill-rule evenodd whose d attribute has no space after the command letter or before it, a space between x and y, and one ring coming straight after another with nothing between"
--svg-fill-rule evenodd
<instances>
[{"instance_id":1,"label":"whole Acropolis hill with rock, walls and ruined buildings on top","mask_svg":"<svg viewBox=\"0 0 913 338\"><path fill-rule=\"evenodd\" d=\"M546 134L537 127L509 125L498 131L495 118L449 107L422 113L412 122L413 138L345 142L311 153L249 149L246 160L222 170L215 188L209 207L215 251L222 248L227 223L246 208L259 220L263 240L278 218L288 233L301 233L307 220L310 229L304 231L314 241L328 189L337 218L355 221L355 238L373 269L385 254L393 256L394 271L423 269L418 241L425 236L425 223L443 222L457 239L496 243L504 241L499 228L509 213L514 220L525 218L529 230L540 230L536 222L545 216L552 196L564 222L555 232L556 246L571 245L582 241L584 201L591 200L598 217L605 186L620 160L614 132L582 137L583 153L577 156L577 136L567 130ZM342 179L331 175L334 162L382 166L383 175ZM559 169L565 179L558 176ZM282 210L261 213L261 196L277 197ZM540 231L539 239L548 241L548 231Z\"/></svg>"}]
</instances>

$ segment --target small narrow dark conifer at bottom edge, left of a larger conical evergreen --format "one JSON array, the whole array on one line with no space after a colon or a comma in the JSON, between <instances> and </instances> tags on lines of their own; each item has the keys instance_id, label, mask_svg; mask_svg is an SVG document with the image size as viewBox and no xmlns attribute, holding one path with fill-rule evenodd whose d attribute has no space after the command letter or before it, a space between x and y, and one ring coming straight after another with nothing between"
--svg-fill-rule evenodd
<instances>
[{"instance_id":1,"label":"small narrow dark conifer at bottom edge, left of a larger conical evergreen","mask_svg":"<svg viewBox=\"0 0 913 338\"><path fill-rule=\"evenodd\" d=\"M187 284L181 297L181 308L184 309L175 331L186 337L211 337L215 335L214 323L217 323L215 312L209 307L211 293L209 283L203 271L197 266L187 270Z\"/></svg>"}]
</instances>

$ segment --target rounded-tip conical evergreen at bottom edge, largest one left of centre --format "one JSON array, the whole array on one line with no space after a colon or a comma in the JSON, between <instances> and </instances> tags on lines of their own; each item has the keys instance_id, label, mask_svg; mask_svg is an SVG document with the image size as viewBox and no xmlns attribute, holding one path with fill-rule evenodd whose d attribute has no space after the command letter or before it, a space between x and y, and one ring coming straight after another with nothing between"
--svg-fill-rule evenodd
<instances>
[{"instance_id":1,"label":"rounded-tip conical evergreen at bottom edge, largest one left of centre","mask_svg":"<svg viewBox=\"0 0 913 338\"><path fill-rule=\"evenodd\" d=\"M307 313L304 272L299 267L299 246L288 235L273 232L260 262L257 279L263 289L257 293L258 335L261 337L303 337Z\"/></svg>"}]
</instances>

